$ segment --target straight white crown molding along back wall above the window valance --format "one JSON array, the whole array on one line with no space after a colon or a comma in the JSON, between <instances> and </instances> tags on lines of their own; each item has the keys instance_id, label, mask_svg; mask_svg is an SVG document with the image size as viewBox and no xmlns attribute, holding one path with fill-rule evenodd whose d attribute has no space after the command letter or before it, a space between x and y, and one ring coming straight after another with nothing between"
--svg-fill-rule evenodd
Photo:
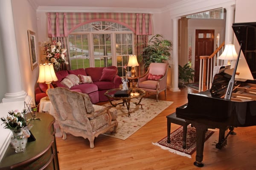
<instances>
[{"instance_id":1,"label":"straight white crown molding along back wall above the window valance","mask_svg":"<svg viewBox=\"0 0 256 170\"><path fill-rule=\"evenodd\" d=\"M119 13L158 13L160 9L145 8L105 8L105 7L64 7L38 6L37 12L119 12Z\"/></svg>"}]
</instances>

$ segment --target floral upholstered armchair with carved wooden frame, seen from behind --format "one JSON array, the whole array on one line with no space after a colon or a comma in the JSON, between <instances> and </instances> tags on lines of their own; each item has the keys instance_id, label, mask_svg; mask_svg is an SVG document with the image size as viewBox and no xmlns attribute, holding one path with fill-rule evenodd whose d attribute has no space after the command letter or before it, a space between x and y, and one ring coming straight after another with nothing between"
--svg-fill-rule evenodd
<instances>
[{"instance_id":1,"label":"floral upholstered armchair with carved wooden frame, seen from behind","mask_svg":"<svg viewBox=\"0 0 256 170\"><path fill-rule=\"evenodd\" d=\"M96 111L87 94L63 87L49 89L48 96L55 109L54 117L61 128L62 139L67 138L66 133L88 138L90 148L93 148L94 138L99 134L116 132L116 109L99 106Z\"/></svg>"}]
</instances>

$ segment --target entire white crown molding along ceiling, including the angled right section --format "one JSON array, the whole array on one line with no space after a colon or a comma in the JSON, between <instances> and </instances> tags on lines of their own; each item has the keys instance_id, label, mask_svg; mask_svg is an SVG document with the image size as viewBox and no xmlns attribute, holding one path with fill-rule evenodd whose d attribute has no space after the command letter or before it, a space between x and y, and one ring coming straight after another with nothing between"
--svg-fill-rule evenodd
<instances>
[{"instance_id":1,"label":"entire white crown molding along ceiling, including the angled right section","mask_svg":"<svg viewBox=\"0 0 256 170\"><path fill-rule=\"evenodd\" d=\"M169 12L175 17L204 12L214 9L234 6L236 0L182 0L161 9L145 8L106 8L106 7L66 7L66 6L38 6L33 0L28 0L37 12L118 12L118 13L148 13L157 14ZM200 4L200 5L198 5Z\"/></svg>"}]
</instances>

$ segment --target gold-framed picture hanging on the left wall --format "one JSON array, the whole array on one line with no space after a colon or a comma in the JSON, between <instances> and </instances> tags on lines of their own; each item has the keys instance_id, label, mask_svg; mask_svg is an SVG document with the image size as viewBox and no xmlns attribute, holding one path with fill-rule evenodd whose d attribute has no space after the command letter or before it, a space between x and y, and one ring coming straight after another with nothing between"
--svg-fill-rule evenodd
<instances>
[{"instance_id":1,"label":"gold-framed picture hanging on the left wall","mask_svg":"<svg viewBox=\"0 0 256 170\"><path fill-rule=\"evenodd\" d=\"M36 39L35 32L28 30L28 40L29 40L29 55L31 70L38 66L37 55L36 55Z\"/></svg>"}]
</instances>

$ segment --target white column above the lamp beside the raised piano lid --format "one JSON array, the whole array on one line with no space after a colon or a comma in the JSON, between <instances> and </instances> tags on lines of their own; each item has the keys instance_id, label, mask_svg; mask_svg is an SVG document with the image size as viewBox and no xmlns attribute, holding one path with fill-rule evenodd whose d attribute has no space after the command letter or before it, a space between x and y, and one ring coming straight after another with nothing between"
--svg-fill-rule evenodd
<instances>
[{"instance_id":1,"label":"white column above the lamp beside the raised piano lid","mask_svg":"<svg viewBox=\"0 0 256 170\"><path fill-rule=\"evenodd\" d=\"M225 44L230 42L233 44L234 32L232 29L232 24L235 17L235 7L226 7L226 31L225 31Z\"/></svg>"}]
</instances>

